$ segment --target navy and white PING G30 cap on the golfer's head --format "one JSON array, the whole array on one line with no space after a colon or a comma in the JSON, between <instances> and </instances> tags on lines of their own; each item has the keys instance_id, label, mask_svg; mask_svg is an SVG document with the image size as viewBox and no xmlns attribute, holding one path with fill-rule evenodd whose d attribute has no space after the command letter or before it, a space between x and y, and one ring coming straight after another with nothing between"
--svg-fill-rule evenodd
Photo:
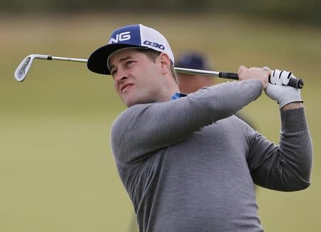
<instances>
[{"instance_id":1,"label":"navy and white PING G30 cap on the golfer's head","mask_svg":"<svg viewBox=\"0 0 321 232\"><path fill-rule=\"evenodd\" d=\"M97 74L110 74L108 58L116 51L128 48L153 49L167 54L174 64L174 55L165 37L142 24L123 26L111 34L108 44L93 51L88 58L87 67Z\"/></svg>"}]
</instances>

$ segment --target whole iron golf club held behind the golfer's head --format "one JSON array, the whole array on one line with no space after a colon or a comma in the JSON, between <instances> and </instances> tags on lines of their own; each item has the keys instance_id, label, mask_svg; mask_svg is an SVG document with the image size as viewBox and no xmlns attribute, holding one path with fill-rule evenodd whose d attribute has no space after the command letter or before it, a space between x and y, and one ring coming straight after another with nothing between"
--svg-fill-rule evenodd
<instances>
[{"instance_id":1,"label":"whole iron golf club held behind the golfer's head","mask_svg":"<svg viewBox=\"0 0 321 232\"><path fill-rule=\"evenodd\" d=\"M28 74L32 61L34 61L34 59L74 61L74 62L83 62L83 63L86 63L88 61L87 59L49 56L49 55L42 55L42 54L31 54L29 56L26 56L26 58L23 61L21 61L21 64L19 64L19 66L16 68L16 71L14 72L14 77L17 81L21 82L21 81L24 81L24 79L26 79L26 75ZM238 80L238 74L222 72L222 71L183 69L183 68L177 68L177 67L175 67L175 71L180 74L203 74L206 76L218 76L220 78ZM303 81L302 79L290 78L287 86L292 86L293 88L296 88L296 89L302 89Z\"/></svg>"}]
</instances>

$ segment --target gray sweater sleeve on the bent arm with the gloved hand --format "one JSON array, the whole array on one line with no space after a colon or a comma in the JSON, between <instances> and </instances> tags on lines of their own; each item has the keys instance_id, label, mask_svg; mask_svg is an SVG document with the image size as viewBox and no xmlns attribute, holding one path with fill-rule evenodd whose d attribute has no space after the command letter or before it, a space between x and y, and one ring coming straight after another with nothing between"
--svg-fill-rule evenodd
<instances>
[{"instance_id":1,"label":"gray sweater sleeve on the bent arm with the gloved hand","mask_svg":"<svg viewBox=\"0 0 321 232\"><path fill-rule=\"evenodd\" d=\"M281 111L279 145L252 131L248 157L253 181L277 191L310 186L312 139L304 108Z\"/></svg>"}]
</instances>

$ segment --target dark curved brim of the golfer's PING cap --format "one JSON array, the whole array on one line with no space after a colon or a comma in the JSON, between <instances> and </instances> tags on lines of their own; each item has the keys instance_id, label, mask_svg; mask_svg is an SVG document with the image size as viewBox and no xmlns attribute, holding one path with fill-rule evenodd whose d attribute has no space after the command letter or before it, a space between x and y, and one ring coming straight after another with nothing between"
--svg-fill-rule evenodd
<instances>
[{"instance_id":1,"label":"dark curved brim of the golfer's PING cap","mask_svg":"<svg viewBox=\"0 0 321 232\"><path fill-rule=\"evenodd\" d=\"M110 75L107 67L107 59L114 52L125 48L145 48L144 46L135 46L133 44L107 44L93 51L87 61L87 67L90 71L97 74Z\"/></svg>"}]
</instances>

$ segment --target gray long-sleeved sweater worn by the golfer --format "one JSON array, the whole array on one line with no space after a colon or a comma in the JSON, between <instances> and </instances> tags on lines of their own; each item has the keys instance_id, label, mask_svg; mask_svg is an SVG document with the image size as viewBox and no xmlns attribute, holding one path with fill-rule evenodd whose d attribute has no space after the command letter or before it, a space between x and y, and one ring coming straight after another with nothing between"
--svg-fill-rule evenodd
<instances>
[{"instance_id":1,"label":"gray long-sleeved sweater worn by the golfer","mask_svg":"<svg viewBox=\"0 0 321 232\"><path fill-rule=\"evenodd\" d=\"M118 116L111 144L139 231L263 231L254 183L277 191L310 185L303 108L280 111L278 146L233 116L261 91L258 80L230 82Z\"/></svg>"}]
</instances>

